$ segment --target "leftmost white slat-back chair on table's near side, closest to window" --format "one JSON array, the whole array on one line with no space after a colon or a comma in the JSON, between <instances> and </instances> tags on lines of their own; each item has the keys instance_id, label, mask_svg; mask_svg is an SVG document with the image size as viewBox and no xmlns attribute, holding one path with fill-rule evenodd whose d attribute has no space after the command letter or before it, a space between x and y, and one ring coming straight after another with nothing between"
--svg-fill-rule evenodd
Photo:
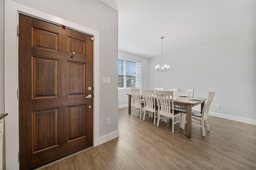
<instances>
[{"instance_id":1,"label":"leftmost white slat-back chair on table's near side, closest to window","mask_svg":"<svg viewBox=\"0 0 256 170\"><path fill-rule=\"evenodd\" d=\"M144 107L144 103L142 102L140 89L131 88L131 94L132 94L132 116L133 116L134 110L139 109L140 119L141 119L142 108Z\"/></svg>"}]
</instances>

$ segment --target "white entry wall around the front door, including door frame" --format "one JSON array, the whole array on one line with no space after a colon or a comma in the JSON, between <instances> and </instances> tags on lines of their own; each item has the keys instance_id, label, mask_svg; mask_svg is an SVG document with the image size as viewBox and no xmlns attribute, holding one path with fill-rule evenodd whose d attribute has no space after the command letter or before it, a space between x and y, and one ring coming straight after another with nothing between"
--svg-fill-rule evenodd
<instances>
[{"instance_id":1,"label":"white entry wall around the front door, including door frame","mask_svg":"<svg viewBox=\"0 0 256 170\"><path fill-rule=\"evenodd\" d=\"M96 87L94 94L97 93L95 95L97 101L94 98L94 145L100 145L118 137L118 78L116 76L117 64L113 64L117 63L118 60L118 12L99 1L47 1L46 3L46 1L38 0L17 2L6 0L4 13L6 17L4 35L8 37L6 38L8 41L5 39L4 42L4 83L5 92L8 92L8 95L5 96L5 110L9 112L6 117L6 169L18 169L17 11L60 24L62 22L67 23L68 26L75 29L86 29L88 33L97 34L94 36L94 44L97 44L94 46L94 62L96 63L94 65L94 86ZM93 33L92 35L94 35ZM111 85L99 83L102 82L102 77L110 77ZM97 114L95 114L95 110L98 110ZM106 125L106 118L111 118L110 125ZM98 127L95 127L95 124ZM96 136L98 137L97 143L95 143Z\"/></svg>"}]
</instances>

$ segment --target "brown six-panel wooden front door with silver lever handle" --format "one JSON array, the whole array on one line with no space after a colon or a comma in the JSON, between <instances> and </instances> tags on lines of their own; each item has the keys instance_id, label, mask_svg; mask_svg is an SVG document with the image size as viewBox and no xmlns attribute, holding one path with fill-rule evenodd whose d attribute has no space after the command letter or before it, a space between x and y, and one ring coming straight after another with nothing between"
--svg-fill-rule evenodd
<instances>
[{"instance_id":1,"label":"brown six-panel wooden front door with silver lever handle","mask_svg":"<svg viewBox=\"0 0 256 170\"><path fill-rule=\"evenodd\" d=\"M18 64L20 170L92 146L92 36L19 14Z\"/></svg>"}]
</instances>

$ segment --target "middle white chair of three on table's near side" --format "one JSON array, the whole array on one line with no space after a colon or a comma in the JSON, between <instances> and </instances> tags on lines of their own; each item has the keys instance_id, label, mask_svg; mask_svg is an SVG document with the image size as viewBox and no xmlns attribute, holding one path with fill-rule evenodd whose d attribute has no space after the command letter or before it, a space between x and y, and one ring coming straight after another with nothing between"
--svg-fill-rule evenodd
<instances>
[{"instance_id":1,"label":"middle white chair of three on table's near side","mask_svg":"<svg viewBox=\"0 0 256 170\"><path fill-rule=\"evenodd\" d=\"M156 106L156 96L154 94L154 90L146 90L142 89L142 98L144 100L144 115L143 120L145 120L145 115L150 113L154 116L154 125L156 125L156 112L158 111L158 107Z\"/></svg>"}]
</instances>

